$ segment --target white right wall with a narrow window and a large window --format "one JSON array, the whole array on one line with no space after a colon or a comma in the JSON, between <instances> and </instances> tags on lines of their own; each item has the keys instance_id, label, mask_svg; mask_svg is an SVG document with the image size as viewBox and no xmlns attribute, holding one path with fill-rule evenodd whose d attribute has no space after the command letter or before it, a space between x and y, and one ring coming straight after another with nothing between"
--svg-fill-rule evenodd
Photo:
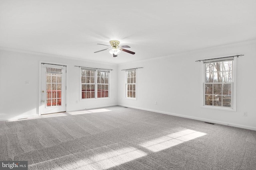
<instances>
[{"instance_id":1,"label":"white right wall with a narrow window and a large window","mask_svg":"<svg viewBox=\"0 0 256 170\"><path fill-rule=\"evenodd\" d=\"M202 108L198 59L243 54L237 60L237 110ZM256 130L256 43L232 45L118 65L118 104ZM125 99L126 68L137 70L137 100ZM155 105L154 103L157 102ZM247 111L248 116L243 113Z\"/></svg>"}]
</instances>

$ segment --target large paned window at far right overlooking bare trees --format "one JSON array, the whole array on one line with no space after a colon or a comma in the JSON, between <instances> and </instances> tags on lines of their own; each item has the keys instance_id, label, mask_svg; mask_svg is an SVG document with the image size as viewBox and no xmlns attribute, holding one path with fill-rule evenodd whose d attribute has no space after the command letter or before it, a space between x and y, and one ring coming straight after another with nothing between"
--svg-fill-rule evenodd
<instances>
[{"instance_id":1,"label":"large paned window at far right overlooking bare trees","mask_svg":"<svg viewBox=\"0 0 256 170\"><path fill-rule=\"evenodd\" d=\"M234 58L204 61L204 106L234 109Z\"/></svg>"}]
</instances>

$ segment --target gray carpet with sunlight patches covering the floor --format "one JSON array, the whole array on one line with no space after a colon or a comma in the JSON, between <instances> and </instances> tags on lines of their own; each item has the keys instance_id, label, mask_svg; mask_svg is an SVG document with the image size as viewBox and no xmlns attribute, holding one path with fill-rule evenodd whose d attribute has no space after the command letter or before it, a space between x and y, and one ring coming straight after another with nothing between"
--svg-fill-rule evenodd
<instances>
[{"instance_id":1,"label":"gray carpet with sunlight patches covering the floor","mask_svg":"<svg viewBox=\"0 0 256 170\"><path fill-rule=\"evenodd\" d=\"M256 131L120 106L0 122L0 160L30 170L255 170Z\"/></svg>"}]
</instances>

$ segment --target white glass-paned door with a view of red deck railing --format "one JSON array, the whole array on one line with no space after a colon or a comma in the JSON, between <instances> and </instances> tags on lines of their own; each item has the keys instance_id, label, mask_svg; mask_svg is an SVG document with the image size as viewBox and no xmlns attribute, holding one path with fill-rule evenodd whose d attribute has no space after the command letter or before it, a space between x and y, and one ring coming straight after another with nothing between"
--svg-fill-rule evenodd
<instances>
[{"instance_id":1,"label":"white glass-paned door with a view of red deck railing","mask_svg":"<svg viewBox=\"0 0 256 170\"><path fill-rule=\"evenodd\" d=\"M66 66L42 64L41 114L66 111Z\"/></svg>"}]
</instances>

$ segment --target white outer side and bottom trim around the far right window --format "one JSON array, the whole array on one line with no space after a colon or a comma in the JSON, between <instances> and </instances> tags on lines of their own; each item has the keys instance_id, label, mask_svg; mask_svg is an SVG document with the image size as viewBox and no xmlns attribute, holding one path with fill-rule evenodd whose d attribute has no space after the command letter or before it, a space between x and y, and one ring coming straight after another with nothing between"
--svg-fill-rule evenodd
<instances>
[{"instance_id":1,"label":"white outer side and bottom trim around the far right window","mask_svg":"<svg viewBox=\"0 0 256 170\"><path fill-rule=\"evenodd\" d=\"M204 79L205 79L205 68L204 62L201 62L201 107L207 109L218 109L218 110L225 110L225 111L236 111L236 70L237 70L237 57L234 57L233 60L233 94L232 94L232 108L225 108L219 106L205 106L204 105Z\"/></svg>"}]
</instances>

